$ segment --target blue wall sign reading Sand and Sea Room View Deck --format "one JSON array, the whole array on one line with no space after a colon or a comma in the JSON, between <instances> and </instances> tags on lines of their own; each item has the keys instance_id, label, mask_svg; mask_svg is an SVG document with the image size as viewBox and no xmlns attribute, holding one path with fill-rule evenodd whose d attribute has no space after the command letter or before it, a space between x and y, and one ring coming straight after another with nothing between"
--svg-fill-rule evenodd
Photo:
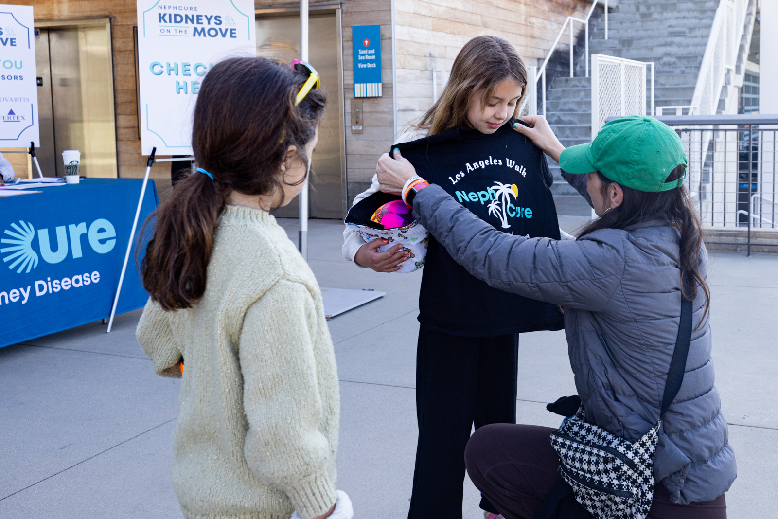
<instances>
[{"instance_id":1,"label":"blue wall sign reading Sand and Sea Room View Deck","mask_svg":"<svg viewBox=\"0 0 778 519\"><path fill-rule=\"evenodd\" d=\"M381 96L381 26L351 28L354 50L354 97Z\"/></svg>"}]
</instances>

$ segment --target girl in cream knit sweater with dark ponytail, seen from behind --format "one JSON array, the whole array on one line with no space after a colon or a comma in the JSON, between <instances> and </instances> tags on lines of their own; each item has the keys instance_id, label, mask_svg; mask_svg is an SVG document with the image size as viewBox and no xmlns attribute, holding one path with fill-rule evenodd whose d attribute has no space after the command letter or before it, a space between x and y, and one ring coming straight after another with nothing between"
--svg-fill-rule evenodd
<instances>
[{"instance_id":1,"label":"girl in cream knit sweater with dark ponytail, seen from behind","mask_svg":"<svg viewBox=\"0 0 778 519\"><path fill-rule=\"evenodd\" d=\"M351 516L335 491L338 377L321 293L268 212L300 192L324 114L312 68L295 67L232 58L209 71L198 173L147 222L137 335L156 373L183 373L172 478L189 519Z\"/></svg>"}]
</instances>

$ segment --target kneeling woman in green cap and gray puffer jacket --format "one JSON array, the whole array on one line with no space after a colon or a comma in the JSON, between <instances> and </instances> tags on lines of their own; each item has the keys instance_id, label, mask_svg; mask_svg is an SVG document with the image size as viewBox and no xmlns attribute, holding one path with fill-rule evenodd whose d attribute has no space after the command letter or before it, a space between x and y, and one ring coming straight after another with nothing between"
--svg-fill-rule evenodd
<instances>
[{"instance_id":1,"label":"kneeling woman in green cap and gray puffer jacket","mask_svg":"<svg viewBox=\"0 0 778 519\"><path fill-rule=\"evenodd\" d=\"M586 421L616 437L636 441L657 423L682 299L692 300L685 377L661 422L647 517L726 517L724 492L737 468L713 386L707 253L682 185L681 140L651 117L622 117L591 146L564 149L545 119L525 121L531 128L517 131L560 163L600 216L578 240L499 233L434 185L405 190L406 203L475 277L563 307ZM401 158L380 160L383 191L403 191L414 175ZM552 431L494 424L471 437L470 477L506 518L534 517L559 479Z\"/></svg>"}]
</instances>

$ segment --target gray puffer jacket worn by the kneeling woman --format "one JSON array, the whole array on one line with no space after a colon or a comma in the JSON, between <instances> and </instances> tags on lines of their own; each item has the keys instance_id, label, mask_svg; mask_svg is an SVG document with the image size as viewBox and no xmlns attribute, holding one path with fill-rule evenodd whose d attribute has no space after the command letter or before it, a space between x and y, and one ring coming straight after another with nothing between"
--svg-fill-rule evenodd
<instances>
[{"instance_id":1,"label":"gray puffer jacket worn by the kneeling woman","mask_svg":"<svg viewBox=\"0 0 778 519\"><path fill-rule=\"evenodd\" d=\"M667 221L596 230L578 240L527 240L499 232L436 185L419 191L413 205L413 216L472 275L562 305L588 422L630 440L657 423L681 315L679 235ZM700 272L707 276L704 248ZM674 503L714 500L737 475L713 386L710 325L697 329L703 314L699 289L683 384L654 459L654 476Z\"/></svg>"}]
</instances>

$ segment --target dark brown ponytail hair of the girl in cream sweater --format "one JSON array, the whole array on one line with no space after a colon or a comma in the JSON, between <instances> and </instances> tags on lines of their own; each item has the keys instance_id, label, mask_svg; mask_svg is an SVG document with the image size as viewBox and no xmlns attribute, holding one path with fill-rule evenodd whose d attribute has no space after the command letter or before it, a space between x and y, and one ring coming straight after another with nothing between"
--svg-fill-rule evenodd
<instances>
[{"instance_id":1,"label":"dark brown ponytail hair of the girl in cream sweater","mask_svg":"<svg viewBox=\"0 0 778 519\"><path fill-rule=\"evenodd\" d=\"M226 59L205 75L192 149L196 165L214 179L197 173L181 181L140 234L143 239L154 233L139 268L144 288L165 310L189 308L205 292L213 235L230 192L279 193L283 200L281 171L289 146L296 146L293 160L307 168L305 146L314 138L326 98L312 90L295 106L306 79L267 58Z\"/></svg>"}]
</instances>

